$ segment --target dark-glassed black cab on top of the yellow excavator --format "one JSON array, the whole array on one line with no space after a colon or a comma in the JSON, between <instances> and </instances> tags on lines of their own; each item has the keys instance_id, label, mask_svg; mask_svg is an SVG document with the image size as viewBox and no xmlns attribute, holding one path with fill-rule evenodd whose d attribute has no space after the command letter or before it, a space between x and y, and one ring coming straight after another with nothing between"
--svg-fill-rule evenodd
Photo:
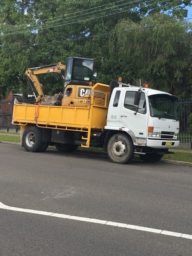
<instances>
[{"instance_id":1,"label":"dark-glassed black cab on top of the yellow excavator","mask_svg":"<svg viewBox=\"0 0 192 256\"><path fill-rule=\"evenodd\" d=\"M66 66L66 85L90 85L93 79L93 59L78 57L68 58Z\"/></svg>"}]
</instances>

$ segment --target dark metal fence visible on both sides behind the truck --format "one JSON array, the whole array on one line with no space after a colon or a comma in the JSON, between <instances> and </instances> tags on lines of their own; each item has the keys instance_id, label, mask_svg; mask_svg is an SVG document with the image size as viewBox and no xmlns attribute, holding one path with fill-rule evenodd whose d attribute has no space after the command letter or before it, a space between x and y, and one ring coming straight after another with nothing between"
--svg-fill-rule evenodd
<instances>
[{"instance_id":1,"label":"dark metal fence visible on both sides behind the truck","mask_svg":"<svg viewBox=\"0 0 192 256\"><path fill-rule=\"evenodd\" d=\"M20 100L19 100L20 101ZM34 99L25 100L26 103L34 103ZM12 125L13 100L0 100L0 129L15 129ZM189 114L192 113L192 99L180 99L177 102L177 116L180 122L179 140L181 143L192 143L192 134L189 134Z\"/></svg>"}]
</instances>

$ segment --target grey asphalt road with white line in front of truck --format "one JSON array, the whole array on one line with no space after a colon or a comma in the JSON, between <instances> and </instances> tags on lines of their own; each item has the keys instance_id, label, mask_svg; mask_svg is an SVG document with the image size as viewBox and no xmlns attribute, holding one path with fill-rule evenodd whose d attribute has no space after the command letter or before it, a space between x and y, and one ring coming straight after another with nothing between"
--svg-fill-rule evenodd
<instances>
[{"instance_id":1,"label":"grey asphalt road with white line in front of truck","mask_svg":"<svg viewBox=\"0 0 192 256\"><path fill-rule=\"evenodd\" d=\"M1 256L192 255L191 167L3 143L0 160Z\"/></svg>"}]
</instances>

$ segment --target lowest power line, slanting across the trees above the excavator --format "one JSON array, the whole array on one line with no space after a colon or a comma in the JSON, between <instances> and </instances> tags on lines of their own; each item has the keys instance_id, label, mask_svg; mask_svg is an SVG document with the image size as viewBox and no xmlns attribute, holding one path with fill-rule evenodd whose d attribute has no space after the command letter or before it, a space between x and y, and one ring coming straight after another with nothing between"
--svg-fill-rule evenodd
<instances>
[{"instance_id":1,"label":"lowest power line, slanting across the trees above the excavator","mask_svg":"<svg viewBox=\"0 0 192 256\"><path fill-rule=\"evenodd\" d=\"M188 18L188 19L184 19L184 20L190 20L190 19L192 19L192 18ZM148 25L148 26L141 27L141 28L124 29L122 31L106 32L106 33L102 33L102 34L99 34L99 35L81 36L81 37L78 37L78 38L67 38L65 40L46 42L46 43L42 43L42 44L31 44L31 45L22 45L20 47L1 48L1 51L8 51L8 50L13 50L13 49L22 49L22 48L26 48L26 47L37 47L39 45L58 44L58 43L63 43L63 42L83 40L83 39L89 39L89 38L100 37L100 36L109 36L109 35L115 35L116 33L126 33L126 32L130 32L130 31L141 30L141 29L154 28L154 27L157 27L157 26L163 26L163 25L166 25L166 24L172 24L172 23L175 23L175 22L182 22L182 21L183 20L175 20L175 21L172 21L172 22L165 22L165 23L159 23L159 24L154 24L154 25Z\"/></svg>"}]
</instances>

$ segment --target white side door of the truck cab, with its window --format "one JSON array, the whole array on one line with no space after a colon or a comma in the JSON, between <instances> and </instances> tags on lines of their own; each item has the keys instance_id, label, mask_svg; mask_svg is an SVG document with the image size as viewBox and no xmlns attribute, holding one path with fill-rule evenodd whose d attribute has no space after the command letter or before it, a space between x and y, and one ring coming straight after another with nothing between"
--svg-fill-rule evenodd
<instances>
[{"instance_id":1,"label":"white side door of the truck cab, with its window","mask_svg":"<svg viewBox=\"0 0 192 256\"><path fill-rule=\"evenodd\" d=\"M135 91L127 90L120 108L120 126L129 128L136 138L147 137L148 115L145 93L141 92L139 106L134 105Z\"/></svg>"}]
</instances>

